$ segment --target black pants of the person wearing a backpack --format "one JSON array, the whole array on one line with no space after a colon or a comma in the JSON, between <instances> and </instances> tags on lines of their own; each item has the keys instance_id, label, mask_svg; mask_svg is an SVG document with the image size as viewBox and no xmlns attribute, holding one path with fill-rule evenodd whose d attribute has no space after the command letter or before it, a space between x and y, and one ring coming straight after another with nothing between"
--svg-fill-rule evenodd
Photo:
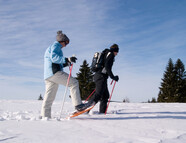
<instances>
[{"instance_id":1,"label":"black pants of the person wearing a backpack","mask_svg":"<svg viewBox=\"0 0 186 143\"><path fill-rule=\"evenodd\" d=\"M96 92L94 94L93 100L97 103L100 101L99 112L105 113L107 108L107 102L109 99L109 91L107 86L107 77L103 74L95 74L94 82L96 84Z\"/></svg>"}]
</instances>

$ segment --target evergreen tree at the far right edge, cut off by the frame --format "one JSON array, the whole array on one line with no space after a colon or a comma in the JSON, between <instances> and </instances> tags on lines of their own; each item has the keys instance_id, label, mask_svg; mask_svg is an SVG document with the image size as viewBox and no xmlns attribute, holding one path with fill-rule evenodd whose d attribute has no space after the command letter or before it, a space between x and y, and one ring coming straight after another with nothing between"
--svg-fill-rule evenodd
<instances>
[{"instance_id":1,"label":"evergreen tree at the far right edge, cut off by the frame","mask_svg":"<svg viewBox=\"0 0 186 143\"><path fill-rule=\"evenodd\" d=\"M186 73L184 64L180 59L175 64L176 72L176 102L186 102Z\"/></svg>"}]
</instances>

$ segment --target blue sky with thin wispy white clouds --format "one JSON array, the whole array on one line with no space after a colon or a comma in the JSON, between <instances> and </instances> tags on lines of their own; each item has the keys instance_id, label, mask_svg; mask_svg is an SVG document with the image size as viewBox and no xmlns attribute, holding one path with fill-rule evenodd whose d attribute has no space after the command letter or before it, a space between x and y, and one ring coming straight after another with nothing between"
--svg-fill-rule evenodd
<instances>
[{"instance_id":1,"label":"blue sky with thin wispy white clouds","mask_svg":"<svg viewBox=\"0 0 186 143\"><path fill-rule=\"evenodd\" d=\"M0 99L44 94L43 56L58 30L71 41L64 55L78 58L73 76L83 60L90 64L95 52L117 43L112 99L157 98L169 58L186 63L185 7L185 0L1 0ZM60 87L57 99L63 93Z\"/></svg>"}]
</instances>

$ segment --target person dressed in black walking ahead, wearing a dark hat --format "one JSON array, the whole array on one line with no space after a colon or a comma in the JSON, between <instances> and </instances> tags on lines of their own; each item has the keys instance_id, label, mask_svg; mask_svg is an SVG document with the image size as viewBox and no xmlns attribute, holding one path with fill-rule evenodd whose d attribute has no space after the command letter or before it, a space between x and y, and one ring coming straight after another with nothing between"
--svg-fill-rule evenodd
<instances>
[{"instance_id":1,"label":"person dressed in black walking ahead, wearing a dark hat","mask_svg":"<svg viewBox=\"0 0 186 143\"><path fill-rule=\"evenodd\" d=\"M119 47L117 44L113 44L110 49L105 49L104 56L104 66L94 75L94 82L96 84L96 92L93 95L92 99L89 101L90 104L96 104L100 101L99 113L105 113L107 108L107 102L109 99L109 91L107 87L107 79L118 81L119 77L114 76L112 73L112 66L114 63L115 56L119 52Z\"/></svg>"}]
</instances>

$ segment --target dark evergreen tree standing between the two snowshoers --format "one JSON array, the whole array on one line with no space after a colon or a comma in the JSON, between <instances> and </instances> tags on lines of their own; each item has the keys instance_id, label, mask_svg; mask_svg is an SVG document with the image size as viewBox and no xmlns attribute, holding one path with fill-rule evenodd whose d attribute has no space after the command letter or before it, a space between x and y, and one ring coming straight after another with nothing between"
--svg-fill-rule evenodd
<instances>
[{"instance_id":1,"label":"dark evergreen tree standing between the two snowshoers","mask_svg":"<svg viewBox=\"0 0 186 143\"><path fill-rule=\"evenodd\" d=\"M83 65L80 66L76 79L79 81L81 99L85 100L95 89L93 73L86 60L84 60Z\"/></svg>"}]
</instances>

